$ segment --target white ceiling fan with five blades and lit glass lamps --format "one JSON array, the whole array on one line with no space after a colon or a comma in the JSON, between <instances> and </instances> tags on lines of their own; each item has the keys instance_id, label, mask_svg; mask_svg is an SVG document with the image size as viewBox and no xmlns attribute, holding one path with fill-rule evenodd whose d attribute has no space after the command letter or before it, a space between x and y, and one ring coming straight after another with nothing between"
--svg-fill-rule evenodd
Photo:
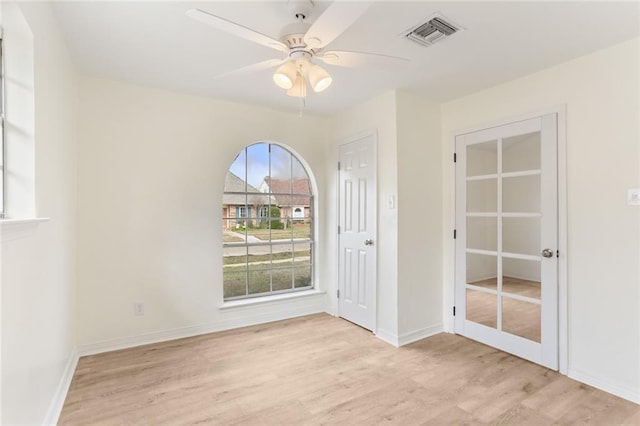
<instances>
[{"instance_id":1,"label":"white ceiling fan with five blades and lit glass lamps","mask_svg":"<svg viewBox=\"0 0 640 426\"><path fill-rule=\"evenodd\" d=\"M396 56L325 50L332 41L364 14L371 3L334 1L311 24L307 22L307 18L313 11L313 1L289 0L289 12L295 18L295 22L282 28L277 40L201 9L190 9L186 12L186 15L221 31L261 44L281 53L279 59L258 62L226 72L218 77L278 67L273 74L275 84L285 89L289 96L305 98L307 84L311 86L314 92L321 92L329 87L333 81L329 73L316 63L317 61L345 67L389 66L408 62L407 59Z\"/></svg>"}]
</instances>

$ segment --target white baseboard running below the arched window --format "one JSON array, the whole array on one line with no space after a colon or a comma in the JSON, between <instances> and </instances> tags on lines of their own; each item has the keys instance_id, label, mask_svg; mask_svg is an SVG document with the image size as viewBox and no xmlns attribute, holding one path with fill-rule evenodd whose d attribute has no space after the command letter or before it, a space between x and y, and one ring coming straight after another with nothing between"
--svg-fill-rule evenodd
<instances>
[{"instance_id":1,"label":"white baseboard running below the arched window","mask_svg":"<svg viewBox=\"0 0 640 426\"><path fill-rule=\"evenodd\" d=\"M80 356L95 355L121 349L133 348L136 346L167 342L170 340L183 339L185 337L193 337L202 334L215 333L217 331L231 330L234 328L248 327L257 324L265 324L269 322L281 321L289 318L296 318L304 315L311 315L322 312L325 312L325 308L323 306L322 300L319 300L318 303L314 303L311 306L306 305L297 309L288 309L285 312L269 312L259 315L247 315L242 318L223 320L215 323L161 330L152 333L140 334L137 336L90 343L81 345L78 348L78 353Z\"/></svg>"}]
</instances>

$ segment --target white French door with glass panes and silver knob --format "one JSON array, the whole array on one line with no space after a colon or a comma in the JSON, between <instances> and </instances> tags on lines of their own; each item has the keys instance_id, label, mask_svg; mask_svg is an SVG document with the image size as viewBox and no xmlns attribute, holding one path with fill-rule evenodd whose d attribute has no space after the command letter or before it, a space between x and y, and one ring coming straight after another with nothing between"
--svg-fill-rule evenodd
<instances>
[{"instance_id":1,"label":"white French door with glass panes and silver knob","mask_svg":"<svg viewBox=\"0 0 640 426\"><path fill-rule=\"evenodd\" d=\"M456 137L455 330L558 369L557 116Z\"/></svg>"}]
</instances>

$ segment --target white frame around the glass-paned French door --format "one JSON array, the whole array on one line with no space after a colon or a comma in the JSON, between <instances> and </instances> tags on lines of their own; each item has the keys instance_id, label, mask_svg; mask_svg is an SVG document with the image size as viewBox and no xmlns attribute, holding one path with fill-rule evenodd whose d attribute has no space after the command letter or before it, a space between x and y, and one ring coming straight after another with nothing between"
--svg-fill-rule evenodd
<instances>
[{"instance_id":1,"label":"white frame around the glass-paned French door","mask_svg":"<svg viewBox=\"0 0 640 426\"><path fill-rule=\"evenodd\" d=\"M560 256L558 258L558 370L560 373L568 374L568 297L567 297L567 247L568 247L568 229L567 229L567 140L566 140L566 104L556 105L549 108L523 113L517 116L487 121L470 127L465 127L453 131L449 135L449 193L451 194L451 223L453 229L456 229L456 169L453 162L453 156L456 152L456 136L472 133L492 127L504 126L516 121L529 120L541 117L547 114L557 114L557 132L558 132L558 250ZM447 235L450 235L448 232ZM453 230L451 230L453 234ZM444 306L444 312L449 312L448 323L449 330L455 333L455 318L453 315L453 306L455 306L455 277L456 277L456 256L455 244L450 246L451 263L449 265L449 273L451 277L450 286L450 302L451 306Z\"/></svg>"}]
</instances>

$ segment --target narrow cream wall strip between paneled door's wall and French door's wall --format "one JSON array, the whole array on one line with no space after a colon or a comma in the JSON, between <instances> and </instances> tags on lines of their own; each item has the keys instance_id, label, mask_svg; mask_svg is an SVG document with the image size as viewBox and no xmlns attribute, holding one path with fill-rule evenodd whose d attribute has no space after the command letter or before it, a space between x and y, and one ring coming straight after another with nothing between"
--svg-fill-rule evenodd
<instances>
[{"instance_id":1,"label":"narrow cream wall strip between paneled door's wall and French door's wall","mask_svg":"<svg viewBox=\"0 0 640 426\"><path fill-rule=\"evenodd\" d=\"M405 344L442 330L440 104L398 92L396 120L398 334Z\"/></svg>"}]
</instances>

